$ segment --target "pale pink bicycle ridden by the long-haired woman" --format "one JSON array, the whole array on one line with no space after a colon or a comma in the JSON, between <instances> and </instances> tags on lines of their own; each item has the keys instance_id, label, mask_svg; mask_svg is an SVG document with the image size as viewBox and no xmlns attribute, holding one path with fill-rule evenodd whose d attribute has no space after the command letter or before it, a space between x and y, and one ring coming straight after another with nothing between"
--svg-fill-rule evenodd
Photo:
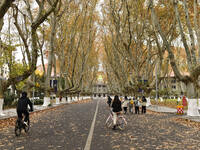
<instances>
[{"instance_id":1,"label":"pale pink bicycle ridden by the long-haired woman","mask_svg":"<svg viewBox=\"0 0 200 150\"><path fill-rule=\"evenodd\" d=\"M108 128L113 126L113 119L114 119L113 112L110 110L110 115L108 116L105 122ZM121 113L118 113L116 127L118 127L120 130L124 130L126 125L127 125L127 121L125 117Z\"/></svg>"}]
</instances>

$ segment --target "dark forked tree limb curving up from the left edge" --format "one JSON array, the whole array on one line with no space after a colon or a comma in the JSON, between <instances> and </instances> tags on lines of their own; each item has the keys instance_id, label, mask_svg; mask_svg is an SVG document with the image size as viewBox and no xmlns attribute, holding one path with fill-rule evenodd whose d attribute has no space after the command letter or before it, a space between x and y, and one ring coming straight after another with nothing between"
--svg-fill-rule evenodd
<instances>
[{"instance_id":1,"label":"dark forked tree limb curving up from the left edge","mask_svg":"<svg viewBox=\"0 0 200 150\"><path fill-rule=\"evenodd\" d=\"M13 5L13 17L14 17L14 24L18 30L18 33L20 35L20 38L23 41L25 52L26 52L26 58L28 60L28 65L24 66L25 70L23 73L18 75L10 75L7 80L2 81L1 84L1 90L0 90L0 97L3 97L4 91L9 87L11 84L19 83L20 81L23 81L27 79L36 69L37 59L38 59L38 45L37 45L37 29L38 27L46 20L46 18L51 14L51 12L56 8L56 5L58 3L58 0L55 1L36 1L38 5L38 11L35 11L36 17L33 17L33 11L34 8L30 7L29 1L24 1L23 5L25 4L27 6L27 12L24 13L22 16L25 18L29 18L29 39L31 41L31 47L28 46L28 39L26 39L26 32L23 32L24 24L18 23L18 17L19 13L22 13L18 8L18 5ZM19 5L20 6L20 5ZM29 17L27 17L27 14L29 14ZM6 50L5 47L3 47L4 50Z\"/></svg>"}]
</instances>

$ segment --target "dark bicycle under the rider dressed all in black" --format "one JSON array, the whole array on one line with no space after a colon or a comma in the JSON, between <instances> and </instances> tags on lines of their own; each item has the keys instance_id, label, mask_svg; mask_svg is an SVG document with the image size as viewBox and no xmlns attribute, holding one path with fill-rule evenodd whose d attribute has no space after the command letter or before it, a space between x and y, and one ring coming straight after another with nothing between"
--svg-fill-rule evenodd
<instances>
[{"instance_id":1,"label":"dark bicycle under the rider dressed all in black","mask_svg":"<svg viewBox=\"0 0 200 150\"><path fill-rule=\"evenodd\" d=\"M24 116L23 116L24 118ZM22 129L24 129L25 133L28 133L30 129L30 119L28 118L27 125L24 124L23 118L17 118L15 123L15 135L20 136Z\"/></svg>"}]
</instances>

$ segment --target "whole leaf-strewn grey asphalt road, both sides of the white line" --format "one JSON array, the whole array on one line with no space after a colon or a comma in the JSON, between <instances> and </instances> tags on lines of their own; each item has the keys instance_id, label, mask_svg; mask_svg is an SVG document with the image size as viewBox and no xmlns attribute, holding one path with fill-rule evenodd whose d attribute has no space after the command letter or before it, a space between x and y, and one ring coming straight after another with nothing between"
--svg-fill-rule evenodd
<instances>
[{"instance_id":1,"label":"whole leaf-strewn grey asphalt road, both sides of the white line","mask_svg":"<svg viewBox=\"0 0 200 150\"><path fill-rule=\"evenodd\" d=\"M106 103L94 100L36 114L28 135L15 137L13 127L1 130L0 150L83 150L96 110L91 150L200 149L200 131L175 122L174 114L128 114L124 131L107 129Z\"/></svg>"}]
</instances>

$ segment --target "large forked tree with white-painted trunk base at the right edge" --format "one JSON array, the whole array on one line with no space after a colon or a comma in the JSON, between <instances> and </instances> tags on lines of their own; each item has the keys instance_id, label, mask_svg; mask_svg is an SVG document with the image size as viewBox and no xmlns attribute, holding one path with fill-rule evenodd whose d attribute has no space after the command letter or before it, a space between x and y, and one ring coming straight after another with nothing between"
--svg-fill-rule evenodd
<instances>
[{"instance_id":1,"label":"large forked tree with white-painted trunk base at the right edge","mask_svg":"<svg viewBox=\"0 0 200 150\"><path fill-rule=\"evenodd\" d=\"M187 4L186 4L186 1L184 1L184 6L185 6L185 15L186 15L186 24L187 24L187 28L189 30L189 35L190 35L190 38L191 38L191 51L189 49L189 46L187 44L187 40L186 40L186 36L185 36L185 32L184 32L184 28L182 26L182 22L181 22L181 18L180 18L180 14L179 14L179 9L178 9L178 1L177 0L173 0L173 6L174 6L174 10L175 10L175 17L176 17L176 20L178 22L178 27L179 27L179 30L180 30L180 35L181 35L181 39L182 39L182 42L183 42L183 45L184 45L184 48L185 48L185 53L186 53L186 59L187 59L187 68L190 72L190 76L184 76L181 74L178 66L177 66L177 63L176 63L176 60L175 60L175 57L174 57L174 53L171 49L171 45L169 44L167 38L166 38L166 35L163 33L161 27L160 27L160 23L159 23L159 20L156 16L156 13L155 13L155 9L154 9L154 6L153 6L153 0L150 1L150 6L149 8L151 9L151 18L152 18L152 22L153 22L153 25L154 25L154 28L156 28L156 30L159 32L162 40L163 40L163 43L165 44L166 46L166 49L169 53L169 58L170 58L170 64L172 66L172 69L174 71L174 74L176 75L176 77L184 82L186 84L186 88L185 88L185 93L186 93L186 97L188 98L188 112L187 114L189 116L199 116L199 112L198 112L198 107L197 107L197 98L198 98L198 92L197 92L197 87L195 85L196 83L196 79L198 77L198 75L200 74L199 72L199 67L198 65L196 65L196 58L195 58L195 54L194 54L194 51L195 51L195 48L194 48L194 37L193 37L193 31L191 29L191 23L190 23L190 20L189 20L189 15L188 15L188 10L187 10Z\"/></svg>"}]
</instances>

